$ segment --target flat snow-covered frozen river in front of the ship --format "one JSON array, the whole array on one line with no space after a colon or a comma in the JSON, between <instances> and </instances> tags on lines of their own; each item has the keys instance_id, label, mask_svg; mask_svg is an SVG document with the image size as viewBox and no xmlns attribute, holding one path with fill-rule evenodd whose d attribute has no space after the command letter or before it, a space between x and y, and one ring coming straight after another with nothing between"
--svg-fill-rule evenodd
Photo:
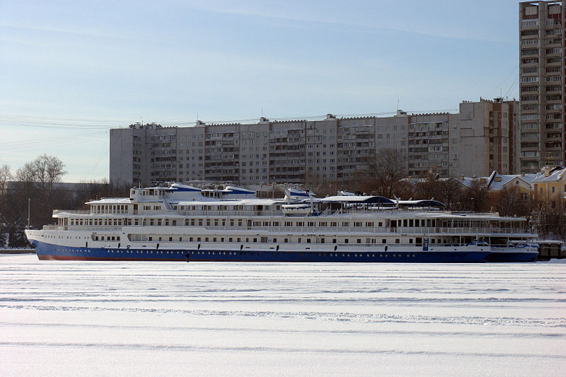
<instances>
[{"instance_id":1,"label":"flat snow-covered frozen river in front of the ship","mask_svg":"<svg viewBox=\"0 0 566 377\"><path fill-rule=\"evenodd\" d=\"M0 376L565 376L566 264L0 255Z\"/></svg>"}]
</instances>

